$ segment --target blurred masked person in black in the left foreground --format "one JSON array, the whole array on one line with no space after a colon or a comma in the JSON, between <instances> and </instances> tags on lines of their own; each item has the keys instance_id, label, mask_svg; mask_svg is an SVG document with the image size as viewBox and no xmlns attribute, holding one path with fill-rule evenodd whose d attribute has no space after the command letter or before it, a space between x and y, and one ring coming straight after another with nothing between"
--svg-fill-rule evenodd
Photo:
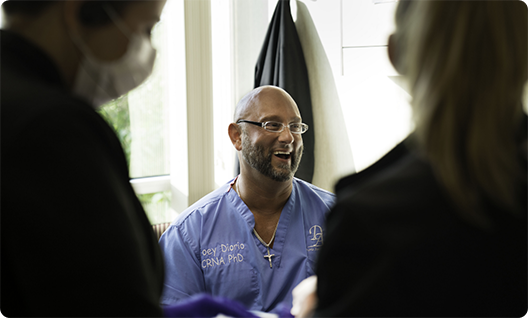
<instances>
[{"instance_id":1,"label":"blurred masked person in black in the left foreground","mask_svg":"<svg viewBox=\"0 0 528 318\"><path fill-rule=\"evenodd\" d=\"M149 76L164 5L2 5L0 316L162 317L162 255L95 108Z\"/></svg>"}]
</instances>

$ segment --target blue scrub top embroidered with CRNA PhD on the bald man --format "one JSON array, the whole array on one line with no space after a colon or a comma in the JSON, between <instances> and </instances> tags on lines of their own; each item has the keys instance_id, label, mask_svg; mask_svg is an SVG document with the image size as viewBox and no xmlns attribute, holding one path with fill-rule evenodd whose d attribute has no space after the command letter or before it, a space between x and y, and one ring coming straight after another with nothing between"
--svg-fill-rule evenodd
<instances>
[{"instance_id":1,"label":"blue scrub top embroidered with CRNA PhD on the bald man","mask_svg":"<svg viewBox=\"0 0 528 318\"><path fill-rule=\"evenodd\" d=\"M273 248L253 234L253 213L233 180L185 210L160 239L165 256L162 304L199 293L237 300L250 310L291 306L292 289L314 275L325 216L335 196L300 179L284 206Z\"/></svg>"}]
</instances>

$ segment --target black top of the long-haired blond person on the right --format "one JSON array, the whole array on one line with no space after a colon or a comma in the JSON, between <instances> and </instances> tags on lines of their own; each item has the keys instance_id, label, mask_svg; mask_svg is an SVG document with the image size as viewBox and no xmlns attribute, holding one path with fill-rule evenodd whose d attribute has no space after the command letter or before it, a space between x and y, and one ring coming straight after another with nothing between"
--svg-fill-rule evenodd
<instances>
[{"instance_id":1,"label":"black top of the long-haired blond person on the right","mask_svg":"<svg viewBox=\"0 0 528 318\"><path fill-rule=\"evenodd\" d=\"M336 193L316 269L315 317L528 312L527 218L486 204L492 230L465 222L406 142L341 180Z\"/></svg>"}]
</instances>

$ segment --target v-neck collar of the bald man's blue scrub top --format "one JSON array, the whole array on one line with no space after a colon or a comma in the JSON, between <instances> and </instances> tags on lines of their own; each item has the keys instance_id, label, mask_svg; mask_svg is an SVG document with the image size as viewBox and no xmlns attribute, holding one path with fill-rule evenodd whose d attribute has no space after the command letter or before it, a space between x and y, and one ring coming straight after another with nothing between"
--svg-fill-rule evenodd
<instances>
[{"instance_id":1,"label":"v-neck collar of the bald man's blue scrub top","mask_svg":"<svg viewBox=\"0 0 528 318\"><path fill-rule=\"evenodd\" d=\"M227 195L230 197L231 202L233 202L233 204L235 205L236 211L238 211L242 218L246 220L248 224L248 231L251 233L251 236L253 237L258 249L262 252L263 255L267 254L267 247L262 244L262 242L260 242L260 240L255 236L255 233L253 233L253 229L255 228L255 217L253 215L253 212L251 212L246 203L242 201L242 199L238 196L238 193L233 187L237 179L238 177L233 179L233 181L229 183L229 187L227 188ZM275 242L273 243L273 248L270 248L270 253L275 254L272 259L272 264L274 267L280 267L282 259L281 255L284 249L286 234L288 232L288 228L290 227L290 221L293 214L292 212L293 206L295 205L296 196L296 188L295 186L292 186L292 192L290 194L290 197L282 208L282 212L279 218L279 224L277 225L277 233L275 234Z\"/></svg>"}]
</instances>

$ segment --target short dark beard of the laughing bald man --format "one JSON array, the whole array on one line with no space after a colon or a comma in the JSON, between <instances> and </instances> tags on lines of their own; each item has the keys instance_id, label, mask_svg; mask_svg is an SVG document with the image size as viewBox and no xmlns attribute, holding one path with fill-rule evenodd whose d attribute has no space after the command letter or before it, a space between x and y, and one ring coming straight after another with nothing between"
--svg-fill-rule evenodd
<instances>
[{"instance_id":1,"label":"short dark beard of the laughing bald man","mask_svg":"<svg viewBox=\"0 0 528 318\"><path fill-rule=\"evenodd\" d=\"M275 168L271 164L271 156L273 156L271 151L266 156L264 147L252 145L247 136L245 136L244 140L242 141L242 157L246 160L246 162L266 177L280 182L288 181L293 178L295 172L297 172L297 169L299 168L303 149L304 146L301 146L299 151L292 151L290 157L291 165L280 164L277 168Z\"/></svg>"}]
</instances>

